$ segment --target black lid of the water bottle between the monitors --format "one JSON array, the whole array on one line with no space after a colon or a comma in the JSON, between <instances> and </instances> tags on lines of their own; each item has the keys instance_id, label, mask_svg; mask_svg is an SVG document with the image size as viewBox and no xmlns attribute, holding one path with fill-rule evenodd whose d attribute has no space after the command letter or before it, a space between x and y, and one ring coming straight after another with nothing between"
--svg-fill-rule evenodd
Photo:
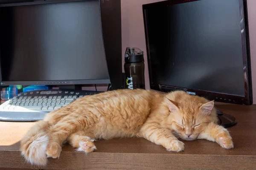
<instances>
[{"instance_id":1,"label":"black lid of the water bottle between the monitors","mask_svg":"<svg viewBox=\"0 0 256 170\"><path fill-rule=\"evenodd\" d=\"M127 47L125 51L125 62L144 62L143 51L140 48Z\"/></svg>"}]
</instances>

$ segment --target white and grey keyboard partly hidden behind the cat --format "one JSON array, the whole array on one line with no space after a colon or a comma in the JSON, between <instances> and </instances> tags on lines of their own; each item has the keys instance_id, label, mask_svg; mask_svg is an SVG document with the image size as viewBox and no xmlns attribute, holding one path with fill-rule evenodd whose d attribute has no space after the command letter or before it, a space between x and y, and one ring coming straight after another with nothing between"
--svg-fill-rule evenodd
<instances>
[{"instance_id":1,"label":"white and grey keyboard partly hidden behind the cat","mask_svg":"<svg viewBox=\"0 0 256 170\"><path fill-rule=\"evenodd\" d=\"M0 121L31 122L71 102L99 91L31 91L22 93L0 105Z\"/></svg>"}]
</instances>

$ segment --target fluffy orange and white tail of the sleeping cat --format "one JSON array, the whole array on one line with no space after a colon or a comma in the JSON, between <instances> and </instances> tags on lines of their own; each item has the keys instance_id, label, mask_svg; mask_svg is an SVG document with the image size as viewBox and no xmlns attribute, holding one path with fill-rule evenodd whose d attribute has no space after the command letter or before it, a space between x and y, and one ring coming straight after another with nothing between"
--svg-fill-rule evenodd
<instances>
[{"instance_id":1,"label":"fluffy orange and white tail of the sleeping cat","mask_svg":"<svg viewBox=\"0 0 256 170\"><path fill-rule=\"evenodd\" d=\"M21 139L21 154L30 164L38 166L45 166L47 164L48 131L49 123L42 120L32 126L23 139Z\"/></svg>"}]
</instances>

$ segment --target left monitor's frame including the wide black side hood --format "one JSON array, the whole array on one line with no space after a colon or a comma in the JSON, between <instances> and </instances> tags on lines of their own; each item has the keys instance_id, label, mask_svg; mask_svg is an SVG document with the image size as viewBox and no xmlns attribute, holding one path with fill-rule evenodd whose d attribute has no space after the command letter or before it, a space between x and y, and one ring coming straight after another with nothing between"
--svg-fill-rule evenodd
<instances>
[{"instance_id":1,"label":"left monitor's frame including the wide black side hood","mask_svg":"<svg viewBox=\"0 0 256 170\"><path fill-rule=\"evenodd\" d=\"M0 0L0 9L4 6L23 6L45 3L61 3L87 0ZM2 82L0 85L82 85L109 84L112 89L122 88L122 32L121 32L121 1L99 0L102 24L102 38L105 49L109 79L90 80L58 80L58 81L13 81Z\"/></svg>"}]
</instances>

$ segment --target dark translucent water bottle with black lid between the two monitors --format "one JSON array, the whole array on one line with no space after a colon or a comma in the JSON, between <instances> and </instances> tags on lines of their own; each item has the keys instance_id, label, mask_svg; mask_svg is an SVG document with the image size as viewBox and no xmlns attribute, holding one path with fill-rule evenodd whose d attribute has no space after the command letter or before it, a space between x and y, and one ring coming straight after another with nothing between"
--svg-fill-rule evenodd
<instances>
[{"instance_id":1,"label":"dark translucent water bottle with black lid between the two monitors","mask_svg":"<svg viewBox=\"0 0 256 170\"><path fill-rule=\"evenodd\" d=\"M143 51L139 48L127 47L125 51L125 88L145 89L145 64Z\"/></svg>"}]
</instances>

